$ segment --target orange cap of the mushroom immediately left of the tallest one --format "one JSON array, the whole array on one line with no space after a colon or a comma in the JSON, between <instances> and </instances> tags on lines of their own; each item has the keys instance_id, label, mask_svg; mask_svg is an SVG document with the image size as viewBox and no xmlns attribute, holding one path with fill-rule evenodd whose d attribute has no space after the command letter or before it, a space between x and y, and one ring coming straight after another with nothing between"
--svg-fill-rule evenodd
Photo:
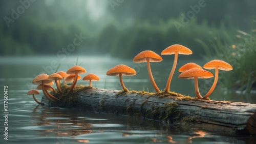
<instances>
[{"instance_id":1,"label":"orange cap of the mushroom immediately left of the tallest one","mask_svg":"<svg viewBox=\"0 0 256 144\"><path fill-rule=\"evenodd\" d=\"M138 53L134 59L134 63L144 63L147 62L146 59L149 58L150 62L161 62L163 61L162 57L158 55L156 52L151 50L144 50Z\"/></svg>"}]
</instances>

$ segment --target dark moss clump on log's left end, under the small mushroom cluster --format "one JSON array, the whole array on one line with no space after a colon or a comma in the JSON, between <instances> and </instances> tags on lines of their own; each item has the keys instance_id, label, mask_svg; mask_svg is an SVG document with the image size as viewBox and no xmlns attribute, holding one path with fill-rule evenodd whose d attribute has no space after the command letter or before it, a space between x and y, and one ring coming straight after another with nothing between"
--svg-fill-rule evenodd
<instances>
[{"instance_id":1,"label":"dark moss clump on log's left end, under the small mushroom cluster","mask_svg":"<svg viewBox=\"0 0 256 144\"><path fill-rule=\"evenodd\" d=\"M92 87L86 87L84 85L76 85L73 92L70 92L70 87L67 87L65 84L61 84L60 85L60 89L62 91L62 93L59 93L57 91L56 94L53 94L53 92L51 92L51 94L53 96L55 96L56 98L59 99L59 101L56 102L51 102L49 101L50 104L53 105L59 105L59 106L63 106L63 107L68 107L68 108L74 108L75 107L75 102L77 100L77 94L81 91L86 91L87 89L93 89Z\"/></svg>"}]
</instances>

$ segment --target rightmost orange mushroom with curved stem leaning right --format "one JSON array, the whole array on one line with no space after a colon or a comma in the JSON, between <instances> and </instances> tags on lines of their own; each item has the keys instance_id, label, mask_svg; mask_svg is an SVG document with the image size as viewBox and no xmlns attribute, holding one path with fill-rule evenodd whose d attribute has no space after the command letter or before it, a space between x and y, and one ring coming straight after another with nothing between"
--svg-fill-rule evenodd
<instances>
[{"instance_id":1,"label":"rightmost orange mushroom with curved stem leaning right","mask_svg":"<svg viewBox=\"0 0 256 144\"><path fill-rule=\"evenodd\" d=\"M212 84L210 90L208 93L203 97L203 99L206 99L210 96L210 94L214 91L217 81L218 81L218 75L219 75L219 69L224 71L231 71L233 68L228 63L221 61L221 60L212 60L204 65L205 69L215 69L215 78L214 83Z\"/></svg>"}]
</instances>

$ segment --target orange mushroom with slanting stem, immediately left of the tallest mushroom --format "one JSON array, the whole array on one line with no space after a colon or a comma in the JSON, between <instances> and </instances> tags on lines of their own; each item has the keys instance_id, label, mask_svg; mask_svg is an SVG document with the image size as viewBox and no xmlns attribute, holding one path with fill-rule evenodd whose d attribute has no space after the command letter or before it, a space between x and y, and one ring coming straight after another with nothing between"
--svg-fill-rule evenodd
<instances>
[{"instance_id":1,"label":"orange mushroom with slanting stem, immediately left of the tallest mushroom","mask_svg":"<svg viewBox=\"0 0 256 144\"><path fill-rule=\"evenodd\" d=\"M163 59L160 55L158 55L157 53L151 50L144 50L139 54L137 54L133 59L134 63L144 63L144 62L147 63L147 72L148 72L148 75L150 76L150 80L156 92L160 92L160 90L158 89L157 84L153 78L151 68L150 68L150 62L161 62L162 60Z\"/></svg>"}]
</instances>

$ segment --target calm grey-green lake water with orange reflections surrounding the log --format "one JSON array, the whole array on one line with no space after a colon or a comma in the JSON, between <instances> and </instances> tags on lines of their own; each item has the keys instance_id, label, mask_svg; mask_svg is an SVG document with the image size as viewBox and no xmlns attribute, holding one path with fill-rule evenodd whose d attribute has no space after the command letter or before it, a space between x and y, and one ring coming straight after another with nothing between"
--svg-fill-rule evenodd
<instances>
[{"instance_id":1,"label":"calm grey-green lake water with orange reflections surrounding the log","mask_svg":"<svg viewBox=\"0 0 256 144\"><path fill-rule=\"evenodd\" d=\"M163 57L164 59L164 57ZM248 143L255 137L247 135L224 135L205 131L193 126L171 125L160 122L115 116L104 113L83 112L78 109L42 107L33 101L27 91L35 89L34 76L54 73L55 62L59 70L67 71L76 64L76 56L65 60L55 56L0 57L0 104L4 113L4 85L8 85L8 141L4 140L4 117L0 118L2 136L0 143ZM191 61L203 66L203 61ZM81 64L80 64L81 63ZM152 63L152 72L160 89L164 89L172 61ZM177 69L170 84L170 90L183 95L194 96L194 81L178 79L178 68L187 61L178 61ZM124 77L124 84L131 90L154 92L147 75L145 64L121 61L102 56L79 56L78 64L88 73L95 73L100 81L93 81L93 87L121 90L118 77L106 76L110 68L125 64L134 68L137 75ZM81 75L82 77L86 74ZM201 94L208 90L208 82L199 80ZM78 83L88 85L88 81ZM40 92L41 93L41 92ZM40 100L42 94L37 96ZM241 101L256 103L255 95L244 95L217 89L211 96L213 100Z\"/></svg>"}]
</instances>

